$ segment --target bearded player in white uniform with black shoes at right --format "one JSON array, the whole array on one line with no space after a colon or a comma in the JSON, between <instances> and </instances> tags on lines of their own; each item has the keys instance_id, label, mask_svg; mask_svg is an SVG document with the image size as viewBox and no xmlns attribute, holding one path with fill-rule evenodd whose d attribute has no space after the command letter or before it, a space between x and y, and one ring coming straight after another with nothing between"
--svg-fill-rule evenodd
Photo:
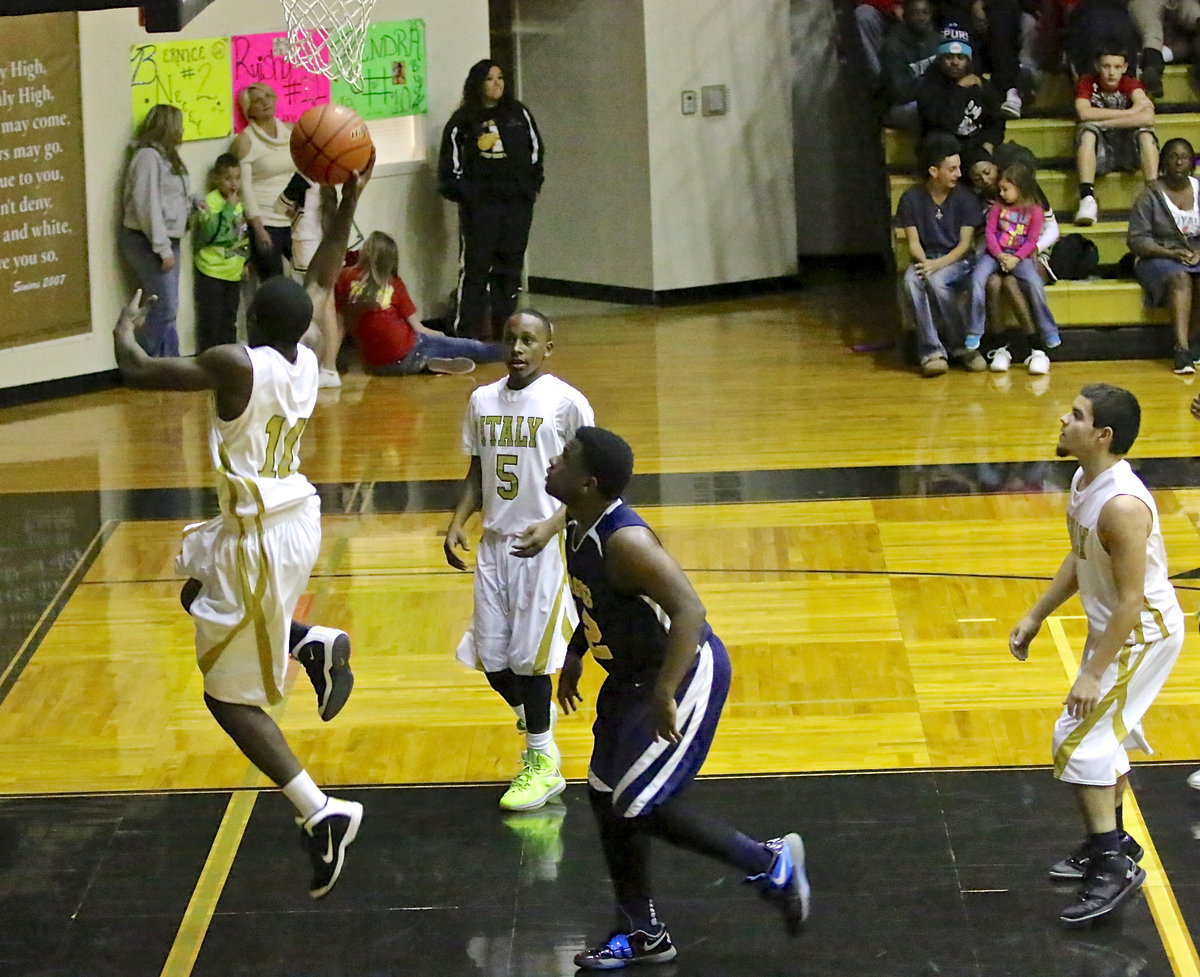
<instances>
[{"instance_id":1,"label":"bearded player in white uniform with black shoes at right","mask_svg":"<svg viewBox=\"0 0 1200 977\"><path fill-rule=\"evenodd\" d=\"M1009 635L1024 661L1042 622L1078 593L1087 617L1082 664L1054 729L1055 777L1074 787L1087 838L1050 877L1081 880L1058 918L1090 923L1141 886L1142 849L1122 822L1129 747L1150 751L1141 718L1183 647L1183 612L1166 573L1158 509L1124 455L1141 409L1128 390L1085 386L1061 419L1057 454L1080 467L1070 485L1070 551Z\"/></svg>"}]
</instances>

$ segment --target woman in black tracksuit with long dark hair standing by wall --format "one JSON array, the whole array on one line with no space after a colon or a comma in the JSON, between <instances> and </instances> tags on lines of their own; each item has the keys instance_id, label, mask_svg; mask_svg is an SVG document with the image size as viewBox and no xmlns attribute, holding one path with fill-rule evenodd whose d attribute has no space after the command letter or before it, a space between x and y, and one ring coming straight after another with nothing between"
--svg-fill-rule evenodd
<instances>
[{"instance_id":1,"label":"woman in black tracksuit with long dark hair standing by wall","mask_svg":"<svg viewBox=\"0 0 1200 977\"><path fill-rule=\"evenodd\" d=\"M476 61L442 133L438 191L458 204L455 331L494 338L517 306L545 146L500 66Z\"/></svg>"}]
</instances>

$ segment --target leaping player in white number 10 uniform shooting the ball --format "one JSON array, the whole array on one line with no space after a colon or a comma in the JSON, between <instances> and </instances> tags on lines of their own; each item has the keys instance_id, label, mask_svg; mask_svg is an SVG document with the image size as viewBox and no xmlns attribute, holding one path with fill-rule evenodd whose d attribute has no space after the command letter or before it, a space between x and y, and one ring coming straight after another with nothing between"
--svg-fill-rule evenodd
<instances>
[{"instance_id":1,"label":"leaping player in white number 10 uniform shooting the ball","mask_svg":"<svg viewBox=\"0 0 1200 977\"><path fill-rule=\"evenodd\" d=\"M209 390L209 444L221 515L185 529L176 568L196 623L204 702L246 757L295 805L313 865L308 894L328 893L362 821L358 802L328 797L300 766L265 712L283 697L290 654L305 664L318 712L331 719L353 685L349 639L292 619L320 549L320 499L298 470L300 436L317 403L313 305L332 288L360 191L346 184L306 284L265 281L246 313L248 346L223 344L196 358L151 359L136 330L155 300L142 293L114 330L116 362L130 386Z\"/></svg>"}]
</instances>

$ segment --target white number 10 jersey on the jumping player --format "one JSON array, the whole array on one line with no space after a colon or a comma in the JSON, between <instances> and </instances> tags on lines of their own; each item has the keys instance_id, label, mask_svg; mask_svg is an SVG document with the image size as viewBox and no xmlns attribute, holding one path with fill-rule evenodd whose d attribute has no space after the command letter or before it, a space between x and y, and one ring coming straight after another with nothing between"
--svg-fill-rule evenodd
<instances>
[{"instance_id":1,"label":"white number 10 jersey on the jumping player","mask_svg":"<svg viewBox=\"0 0 1200 977\"><path fill-rule=\"evenodd\" d=\"M317 355L296 346L296 361L269 346L247 347L254 379L250 403L221 420L211 403L209 449L227 516L263 517L316 493L300 474L300 436L317 403Z\"/></svg>"}]
</instances>

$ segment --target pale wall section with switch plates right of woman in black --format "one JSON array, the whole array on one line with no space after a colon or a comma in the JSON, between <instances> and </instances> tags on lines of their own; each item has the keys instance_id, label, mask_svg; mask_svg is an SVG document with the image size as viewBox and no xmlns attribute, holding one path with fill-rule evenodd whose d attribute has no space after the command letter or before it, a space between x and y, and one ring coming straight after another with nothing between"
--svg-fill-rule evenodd
<instances>
[{"instance_id":1,"label":"pale wall section with switch plates right of woman in black","mask_svg":"<svg viewBox=\"0 0 1200 977\"><path fill-rule=\"evenodd\" d=\"M796 271L788 7L521 0L547 143L530 275L666 290ZM683 115L709 84L730 113Z\"/></svg>"}]
</instances>

